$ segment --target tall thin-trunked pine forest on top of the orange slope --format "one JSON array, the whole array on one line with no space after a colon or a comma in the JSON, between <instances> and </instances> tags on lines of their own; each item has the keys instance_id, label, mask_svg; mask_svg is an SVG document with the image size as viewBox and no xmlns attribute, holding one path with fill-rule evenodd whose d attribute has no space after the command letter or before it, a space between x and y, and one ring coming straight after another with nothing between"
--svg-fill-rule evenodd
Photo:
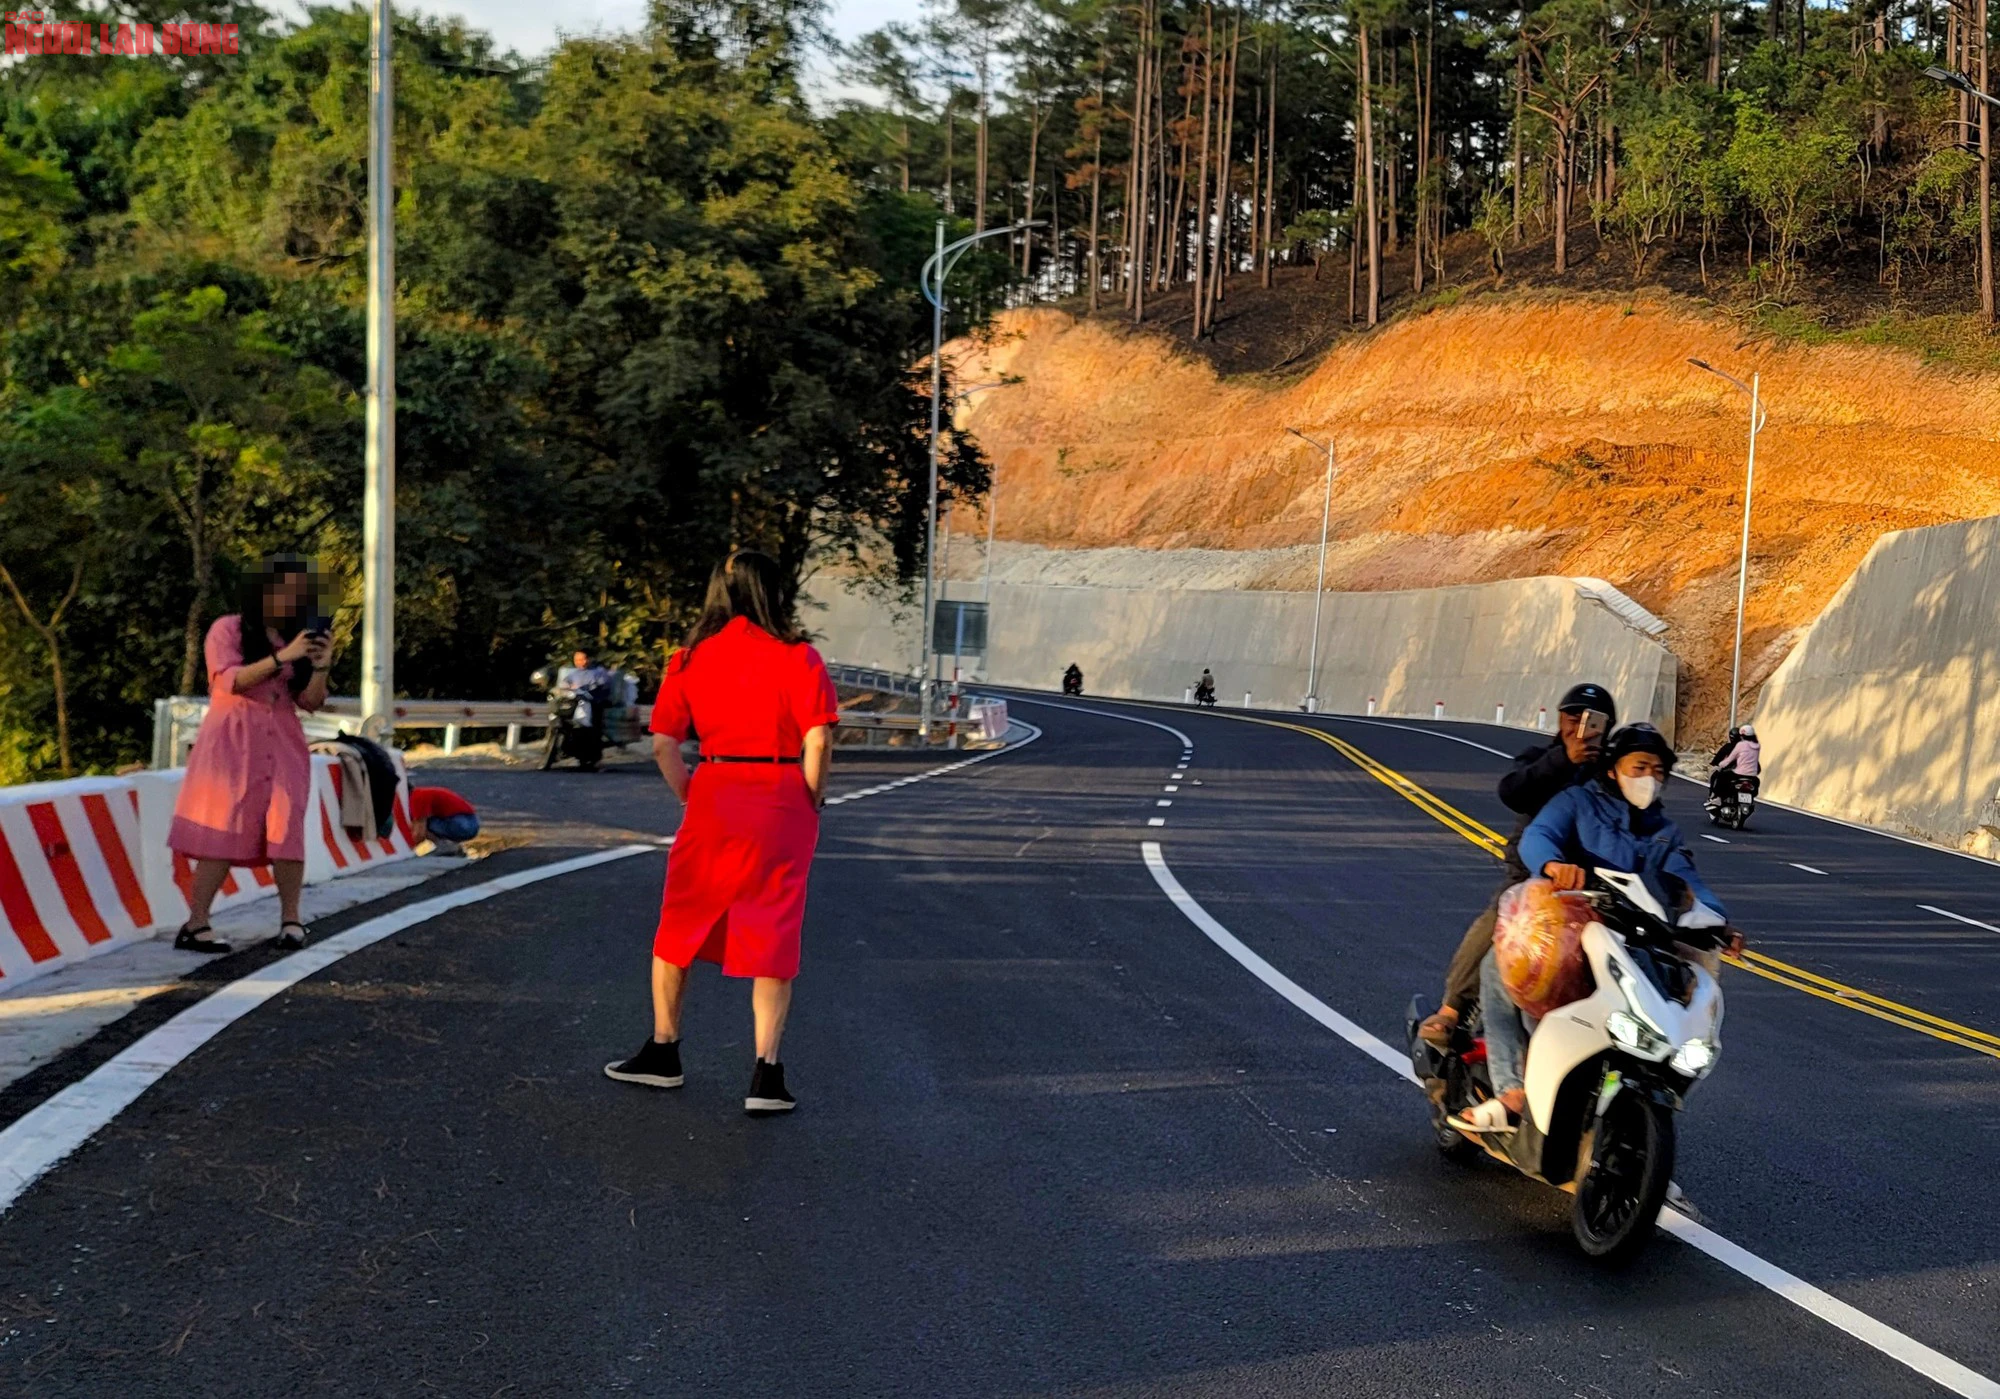
<instances>
[{"instance_id":1,"label":"tall thin-trunked pine forest on top of the orange slope","mask_svg":"<svg viewBox=\"0 0 2000 1399\"><path fill-rule=\"evenodd\" d=\"M1562 276L1590 226L1636 280L1684 254L1762 300L1840 274L1978 310L1984 108L1924 68L1980 80L1992 28L1986 0L946 0L852 48L880 96L838 130L882 188L1046 220L1014 240L1042 292L1172 290L1176 324L1202 278L1336 244L1366 280L1370 228L1418 292L1454 234Z\"/></svg>"}]
</instances>

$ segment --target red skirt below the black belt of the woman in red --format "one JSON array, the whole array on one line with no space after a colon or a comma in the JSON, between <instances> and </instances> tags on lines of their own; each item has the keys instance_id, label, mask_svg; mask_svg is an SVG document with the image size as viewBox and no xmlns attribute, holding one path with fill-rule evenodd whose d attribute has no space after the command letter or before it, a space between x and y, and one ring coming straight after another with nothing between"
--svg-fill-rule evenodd
<instances>
[{"instance_id":1,"label":"red skirt below the black belt of the woman in red","mask_svg":"<svg viewBox=\"0 0 2000 1399\"><path fill-rule=\"evenodd\" d=\"M700 763L666 859L652 955L728 977L798 975L820 813L794 763Z\"/></svg>"}]
</instances>

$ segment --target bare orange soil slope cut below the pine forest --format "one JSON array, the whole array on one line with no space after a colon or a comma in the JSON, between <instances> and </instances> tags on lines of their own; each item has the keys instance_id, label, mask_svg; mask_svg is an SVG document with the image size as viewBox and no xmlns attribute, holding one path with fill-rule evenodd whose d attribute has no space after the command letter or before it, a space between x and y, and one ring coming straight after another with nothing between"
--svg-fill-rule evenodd
<instances>
[{"instance_id":1,"label":"bare orange soil slope cut below the pine forest","mask_svg":"<svg viewBox=\"0 0 2000 1399\"><path fill-rule=\"evenodd\" d=\"M1218 380L1160 338L1034 310L956 352L966 378L1022 378L962 412L998 470L1002 540L1312 544L1324 458L1284 428L1332 434L1330 588L1606 578L1670 624L1682 733L1702 739L1728 701L1748 400L1688 356L1760 374L1770 408L1752 688L1882 532L2000 514L2000 376L1740 336L1660 304L1482 302L1356 338L1296 380ZM1272 582L1312 588L1310 566Z\"/></svg>"}]
</instances>

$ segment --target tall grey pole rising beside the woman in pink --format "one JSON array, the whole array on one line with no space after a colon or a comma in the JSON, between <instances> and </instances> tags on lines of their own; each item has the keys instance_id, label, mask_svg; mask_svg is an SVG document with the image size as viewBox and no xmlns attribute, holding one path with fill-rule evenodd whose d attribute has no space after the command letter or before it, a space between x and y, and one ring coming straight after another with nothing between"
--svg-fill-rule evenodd
<instances>
[{"instance_id":1,"label":"tall grey pole rising beside the woman in pink","mask_svg":"<svg viewBox=\"0 0 2000 1399\"><path fill-rule=\"evenodd\" d=\"M362 496L362 731L396 727L396 78L388 0L368 24L368 456Z\"/></svg>"}]
</instances>

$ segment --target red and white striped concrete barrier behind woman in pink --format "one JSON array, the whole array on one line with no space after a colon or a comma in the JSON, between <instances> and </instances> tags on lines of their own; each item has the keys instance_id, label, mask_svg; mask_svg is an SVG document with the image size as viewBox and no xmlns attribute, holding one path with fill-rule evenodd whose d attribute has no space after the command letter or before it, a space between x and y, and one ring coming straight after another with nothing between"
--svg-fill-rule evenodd
<instances>
[{"instance_id":1,"label":"red and white striped concrete barrier behind woman in pink","mask_svg":"<svg viewBox=\"0 0 2000 1399\"><path fill-rule=\"evenodd\" d=\"M396 755L402 771L402 755ZM188 917L194 861L166 845L184 769L0 787L0 991ZM410 785L386 837L340 825L340 761L314 755L306 883L408 859ZM230 869L214 909L276 891L270 865Z\"/></svg>"}]
</instances>

